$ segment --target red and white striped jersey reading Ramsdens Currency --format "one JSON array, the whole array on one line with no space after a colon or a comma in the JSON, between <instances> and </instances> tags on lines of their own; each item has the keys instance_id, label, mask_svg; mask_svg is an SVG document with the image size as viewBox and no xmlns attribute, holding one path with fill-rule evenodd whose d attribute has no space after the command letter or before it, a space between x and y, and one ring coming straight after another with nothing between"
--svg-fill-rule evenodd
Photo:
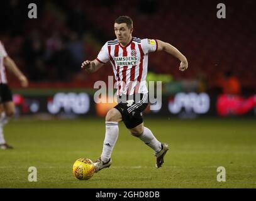
<instances>
[{"instance_id":1,"label":"red and white striped jersey reading Ramsdens Currency","mask_svg":"<svg viewBox=\"0 0 256 201\"><path fill-rule=\"evenodd\" d=\"M105 43L96 60L101 63L110 61L116 79L117 95L148 93L148 53L157 51L157 46L157 40L140 40L135 37L125 47L117 39Z\"/></svg>"}]
</instances>

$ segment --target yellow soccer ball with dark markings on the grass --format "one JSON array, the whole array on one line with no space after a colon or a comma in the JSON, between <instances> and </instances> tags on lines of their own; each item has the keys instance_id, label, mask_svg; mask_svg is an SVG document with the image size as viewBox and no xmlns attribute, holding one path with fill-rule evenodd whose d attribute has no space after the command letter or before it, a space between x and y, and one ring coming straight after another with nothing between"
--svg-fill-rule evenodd
<instances>
[{"instance_id":1,"label":"yellow soccer ball with dark markings on the grass","mask_svg":"<svg viewBox=\"0 0 256 201\"><path fill-rule=\"evenodd\" d=\"M79 158L73 165L73 175L79 180L89 180L94 171L95 166L89 158Z\"/></svg>"}]
</instances>

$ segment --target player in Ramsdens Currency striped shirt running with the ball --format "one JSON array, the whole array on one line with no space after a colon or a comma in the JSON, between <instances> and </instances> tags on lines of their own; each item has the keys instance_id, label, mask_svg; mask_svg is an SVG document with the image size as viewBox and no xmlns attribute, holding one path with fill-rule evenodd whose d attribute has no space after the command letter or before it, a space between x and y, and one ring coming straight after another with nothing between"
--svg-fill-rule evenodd
<instances>
[{"instance_id":1,"label":"player in Ramsdens Currency striped shirt running with the ball","mask_svg":"<svg viewBox=\"0 0 256 201\"><path fill-rule=\"evenodd\" d=\"M111 152L118 139L118 122L123 121L130 133L140 138L155 151L156 167L164 163L169 150L166 143L160 143L150 129L143 126L142 112L148 105L148 90L145 83L148 68L148 53L164 50L181 61L179 70L187 69L187 59L179 50L160 40L140 39L131 36L133 21L120 16L114 22L116 40L105 43L97 58L86 60L81 68L96 72L104 63L111 62L117 81L118 105L106 115L106 133L101 157L95 161L96 172L111 165Z\"/></svg>"}]
</instances>

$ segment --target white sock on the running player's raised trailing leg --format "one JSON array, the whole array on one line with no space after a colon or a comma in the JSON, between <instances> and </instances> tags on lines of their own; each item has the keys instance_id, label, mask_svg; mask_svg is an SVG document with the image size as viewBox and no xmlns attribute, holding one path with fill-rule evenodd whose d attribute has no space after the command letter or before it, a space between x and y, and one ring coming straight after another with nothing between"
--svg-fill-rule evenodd
<instances>
[{"instance_id":1,"label":"white sock on the running player's raised trailing leg","mask_svg":"<svg viewBox=\"0 0 256 201\"><path fill-rule=\"evenodd\" d=\"M143 133L138 136L147 146L152 148L155 152L159 152L162 149L160 141L153 136L153 133L147 127L144 127Z\"/></svg>"}]
</instances>

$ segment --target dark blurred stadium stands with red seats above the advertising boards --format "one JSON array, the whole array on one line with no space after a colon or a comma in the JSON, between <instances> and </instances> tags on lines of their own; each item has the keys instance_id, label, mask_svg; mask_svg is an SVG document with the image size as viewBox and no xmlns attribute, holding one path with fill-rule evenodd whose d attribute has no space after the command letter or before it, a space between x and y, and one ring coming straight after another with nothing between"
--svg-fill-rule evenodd
<instances>
[{"instance_id":1,"label":"dark blurred stadium stands with red seats above the advertising boards","mask_svg":"<svg viewBox=\"0 0 256 201\"><path fill-rule=\"evenodd\" d=\"M217 97L222 94L218 81L229 71L240 82L239 95L246 99L256 94L254 1L221 2L226 5L226 19L216 17L218 1L34 1L37 19L28 18L29 3L6 1L0 8L1 41L30 80L28 90L21 90L8 74L9 85L23 95L20 99L24 101L16 102L23 105L21 114L31 113L25 107L35 99L38 112L47 112L43 109L47 103L40 101L42 91L47 94L44 99L64 89L87 90L92 95L94 91L88 89L97 80L108 81L108 75L113 75L110 63L93 74L80 67L83 60L93 60L106 41L114 39L113 21L120 15L133 19L133 36L167 41L189 61L189 70L180 72L174 57L163 52L150 55L148 77L163 80L164 111L178 92L206 92L211 101L206 115L216 116ZM33 94L33 100L26 94ZM92 104L91 114L93 109ZM194 113L191 108L187 111ZM255 116L255 112L250 109L245 115Z\"/></svg>"}]
</instances>

